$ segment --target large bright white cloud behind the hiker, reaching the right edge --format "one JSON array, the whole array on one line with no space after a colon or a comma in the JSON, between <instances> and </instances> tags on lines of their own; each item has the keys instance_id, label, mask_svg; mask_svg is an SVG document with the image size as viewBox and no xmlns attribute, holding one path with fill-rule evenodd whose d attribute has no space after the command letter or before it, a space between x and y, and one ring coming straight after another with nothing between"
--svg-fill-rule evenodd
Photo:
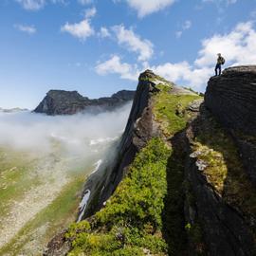
<instances>
[{"instance_id":1,"label":"large bright white cloud behind the hiker, reaching the right edge","mask_svg":"<svg viewBox=\"0 0 256 256\"><path fill-rule=\"evenodd\" d=\"M255 64L255 42L256 30L253 23L240 23L228 34L215 34L203 40L198 58L193 64L168 63L152 66L152 69L171 81L182 81L195 89L203 90L213 73L218 52L223 53L228 65Z\"/></svg>"}]
</instances>

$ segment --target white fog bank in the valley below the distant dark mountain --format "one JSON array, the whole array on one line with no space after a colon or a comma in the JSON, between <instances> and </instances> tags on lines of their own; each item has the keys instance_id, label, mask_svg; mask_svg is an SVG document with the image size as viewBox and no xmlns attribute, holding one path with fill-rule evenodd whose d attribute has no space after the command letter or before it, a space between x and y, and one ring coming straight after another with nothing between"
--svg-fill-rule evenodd
<instances>
[{"instance_id":1,"label":"white fog bank in the valley below the distant dark mountain","mask_svg":"<svg viewBox=\"0 0 256 256\"><path fill-rule=\"evenodd\" d=\"M130 108L128 103L114 112L55 117L27 111L0 113L0 146L50 153L58 144L70 154L89 154L98 145L120 136Z\"/></svg>"}]
</instances>

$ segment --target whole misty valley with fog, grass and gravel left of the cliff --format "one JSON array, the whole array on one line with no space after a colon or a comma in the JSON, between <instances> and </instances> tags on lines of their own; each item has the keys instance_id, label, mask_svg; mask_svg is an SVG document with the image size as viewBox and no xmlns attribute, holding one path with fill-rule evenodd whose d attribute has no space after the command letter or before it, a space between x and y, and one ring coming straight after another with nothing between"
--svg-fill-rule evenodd
<instances>
[{"instance_id":1,"label":"whole misty valley with fog, grass and gravel left of the cliff","mask_svg":"<svg viewBox=\"0 0 256 256\"><path fill-rule=\"evenodd\" d=\"M101 114L0 113L1 255L6 247L8 251L19 247L21 255L37 255L55 229L63 229L70 218L77 217L76 200L85 176L114 150L111 145L122 134L130 109L131 103ZM79 191L74 191L73 184L80 184L76 185ZM64 201L62 206L56 203L59 197L72 198L72 202ZM55 211L49 213L70 204L73 210L61 210L63 217ZM64 227L58 226L60 218L64 218Z\"/></svg>"}]
</instances>

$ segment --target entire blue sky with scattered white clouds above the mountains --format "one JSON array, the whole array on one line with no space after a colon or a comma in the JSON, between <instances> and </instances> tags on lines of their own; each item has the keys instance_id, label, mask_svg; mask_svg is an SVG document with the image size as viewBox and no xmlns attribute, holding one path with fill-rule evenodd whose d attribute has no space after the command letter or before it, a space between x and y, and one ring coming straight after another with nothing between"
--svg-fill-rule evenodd
<instances>
[{"instance_id":1,"label":"entire blue sky with scattered white clouds above the mountains","mask_svg":"<svg viewBox=\"0 0 256 256\"><path fill-rule=\"evenodd\" d=\"M204 91L216 54L256 63L256 0L1 0L0 107L49 89L136 89L145 68Z\"/></svg>"}]
</instances>

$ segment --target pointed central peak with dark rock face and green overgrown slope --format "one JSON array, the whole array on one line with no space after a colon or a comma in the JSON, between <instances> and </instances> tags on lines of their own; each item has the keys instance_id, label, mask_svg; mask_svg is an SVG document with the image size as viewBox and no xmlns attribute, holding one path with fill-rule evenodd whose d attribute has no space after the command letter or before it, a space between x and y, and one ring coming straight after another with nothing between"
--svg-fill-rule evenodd
<instances>
[{"instance_id":1,"label":"pointed central peak with dark rock face and green overgrown slope","mask_svg":"<svg viewBox=\"0 0 256 256\"><path fill-rule=\"evenodd\" d=\"M167 191L167 162L171 154L167 139L186 127L200 101L197 94L167 82L150 70L142 73L117 151L110 153L110 159L101 164L84 186L84 192L89 191L90 197L82 218L91 216L90 224L83 221L56 236L49 243L46 255L64 255L76 244L76 230L86 233L91 225L95 228L92 238L102 244L101 249L95 248L101 250L100 255L144 255L139 245L147 253L150 252L149 246L155 253L159 250L159 255L165 254L167 247L162 238L161 213ZM115 199L109 199L110 196ZM114 208L112 201L115 202ZM124 231L133 240L127 248L122 248ZM97 232L100 232L99 236ZM107 246L112 243L113 247ZM92 247L85 255L96 253ZM73 247L72 253L79 255L82 248Z\"/></svg>"}]
</instances>

